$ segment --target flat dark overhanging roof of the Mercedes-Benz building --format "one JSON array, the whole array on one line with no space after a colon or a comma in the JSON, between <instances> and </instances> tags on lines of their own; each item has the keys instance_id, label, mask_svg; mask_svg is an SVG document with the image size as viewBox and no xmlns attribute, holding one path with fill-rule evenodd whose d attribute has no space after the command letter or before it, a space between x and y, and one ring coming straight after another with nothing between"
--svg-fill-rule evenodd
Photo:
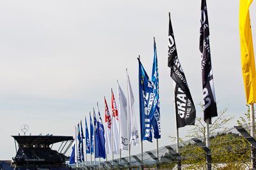
<instances>
[{"instance_id":1,"label":"flat dark overhanging roof of the Mercedes-Benz building","mask_svg":"<svg viewBox=\"0 0 256 170\"><path fill-rule=\"evenodd\" d=\"M73 136L12 136L20 145L46 144L73 140Z\"/></svg>"}]
</instances>

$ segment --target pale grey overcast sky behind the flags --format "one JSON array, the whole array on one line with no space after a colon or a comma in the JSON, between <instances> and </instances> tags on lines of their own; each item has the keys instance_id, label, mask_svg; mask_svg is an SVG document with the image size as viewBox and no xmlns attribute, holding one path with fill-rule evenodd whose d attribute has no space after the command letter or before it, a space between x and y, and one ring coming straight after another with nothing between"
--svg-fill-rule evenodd
<instances>
[{"instance_id":1,"label":"pale grey overcast sky behind the flags","mask_svg":"<svg viewBox=\"0 0 256 170\"><path fill-rule=\"evenodd\" d=\"M208 0L212 70L218 108L235 118L246 112L239 38L239 1ZM250 8L256 39L256 4ZM73 136L104 96L111 108L116 80L126 93L128 69L138 127L138 60L152 73L153 37L159 64L161 139L175 136L173 83L168 57L168 12L178 57L195 104L202 102L199 51L200 0L0 1L0 160L15 157L12 135ZM256 42L254 41L254 44ZM197 106L197 116L202 112ZM84 123L83 123L84 124ZM236 121L228 126L236 125ZM188 129L180 129L185 136ZM155 141L144 150L155 149ZM132 147L132 154L140 151ZM68 154L70 151L68 152ZM127 156L127 152L124 152Z\"/></svg>"}]
</instances>

